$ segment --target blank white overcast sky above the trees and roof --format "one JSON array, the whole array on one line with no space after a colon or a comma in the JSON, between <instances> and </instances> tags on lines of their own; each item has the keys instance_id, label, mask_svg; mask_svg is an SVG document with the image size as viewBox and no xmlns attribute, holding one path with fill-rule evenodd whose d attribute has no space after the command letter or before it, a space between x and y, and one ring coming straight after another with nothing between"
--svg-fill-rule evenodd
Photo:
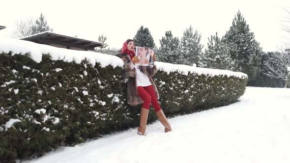
<instances>
[{"instance_id":1,"label":"blank white overcast sky above the trees and roof","mask_svg":"<svg viewBox=\"0 0 290 163\"><path fill-rule=\"evenodd\" d=\"M0 37L9 37L16 20L38 18L41 13L54 32L97 40L107 36L109 47L121 48L137 30L147 27L157 46L171 30L181 38L190 25L207 37L222 37L241 11L264 51L275 51L287 34L281 21L290 7L290 0L1 0Z\"/></svg>"}]
</instances>

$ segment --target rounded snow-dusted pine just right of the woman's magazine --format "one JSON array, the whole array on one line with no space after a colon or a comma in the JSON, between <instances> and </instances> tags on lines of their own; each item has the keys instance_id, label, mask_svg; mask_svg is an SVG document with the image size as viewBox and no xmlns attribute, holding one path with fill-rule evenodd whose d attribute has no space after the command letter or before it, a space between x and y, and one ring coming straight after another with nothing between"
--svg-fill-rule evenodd
<instances>
[{"instance_id":1,"label":"rounded snow-dusted pine just right of the woman's magazine","mask_svg":"<svg viewBox=\"0 0 290 163\"><path fill-rule=\"evenodd\" d=\"M178 37L173 37L171 31L165 32L165 37L160 40L160 48L157 50L158 61L173 64L182 64L184 62L180 53L180 41Z\"/></svg>"}]
</instances>

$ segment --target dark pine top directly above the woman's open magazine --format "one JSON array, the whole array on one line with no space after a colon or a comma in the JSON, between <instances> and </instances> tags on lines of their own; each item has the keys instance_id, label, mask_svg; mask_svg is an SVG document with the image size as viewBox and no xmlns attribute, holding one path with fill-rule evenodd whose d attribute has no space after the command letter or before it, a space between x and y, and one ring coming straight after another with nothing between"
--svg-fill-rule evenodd
<instances>
[{"instance_id":1,"label":"dark pine top directly above the woman's open magazine","mask_svg":"<svg viewBox=\"0 0 290 163\"><path fill-rule=\"evenodd\" d=\"M149 29L141 26L133 38L136 46L139 47L155 47L153 37L151 36Z\"/></svg>"}]
</instances>

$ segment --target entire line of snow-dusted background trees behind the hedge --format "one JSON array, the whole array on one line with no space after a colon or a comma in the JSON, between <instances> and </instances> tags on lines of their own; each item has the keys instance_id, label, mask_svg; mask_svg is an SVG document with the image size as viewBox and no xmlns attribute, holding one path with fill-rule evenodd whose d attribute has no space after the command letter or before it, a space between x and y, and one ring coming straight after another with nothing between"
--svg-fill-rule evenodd
<instances>
[{"instance_id":1,"label":"entire line of snow-dusted background trees behind the hedge","mask_svg":"<svg viewBox=\"0 0 290 163\"><path fill-rule=\"evenodd\" d=\"M290 11L287 8L285 11L289 16L283 29L290 33ZM35 21L30 18L26 21L18 21L15 25L15 30L11 34L12 38L53 31L43 14ZM248 75L248 85L251 86L289 86L290 50L263 52L240 11L234 16L232 26L222 37L219 37L217 32L208 37L204 51L201 38L201 33L192 26L185 28L180 39L174 37L172 31L166 31L165 36L159 40L160 47L156 50L158 61L243 72ZM146 27L141 26L133 39L136 46L156 47ZM119 49L108 48L106 40L106 36L99 36L98 41L103 46L96 48L95 51L116 54Z\"/></svg>"}]
</instances>

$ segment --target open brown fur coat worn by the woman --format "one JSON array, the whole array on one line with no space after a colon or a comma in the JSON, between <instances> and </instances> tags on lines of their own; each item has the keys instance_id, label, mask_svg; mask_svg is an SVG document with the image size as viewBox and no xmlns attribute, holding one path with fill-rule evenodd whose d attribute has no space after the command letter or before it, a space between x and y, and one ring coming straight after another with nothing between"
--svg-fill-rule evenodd
<instances>
[{"instance_id":1,"label":"open brown fur coat worn by the woman","mask_svg":"<svg viewBox=\"0 0 290 163\"><path fill-rule=\"evenodd\" d=\"M128 79L128 83L127 83L127 102L129 105L131 106L136 106L136 105L140 105L143 103L143 100L139 97L138 95L138 91L137 91L137 84L136 84L136 70L135 68L133 70L131 70L131 59L129 57L129 55L127 54L122 54L122 53L118 53L116 54L116 56L120 57L123 62L124 62L124 66L123 66L123 78L124 79ZM159 99L159 93L157 90L157 87L154 83L154 81L152 80L152 77L156 74L157 69L156 69L156 65L154 65L152 68L150 68L149 66L139 66L140 71L144 74L146 74L149 78L149 81L151 82L155 94L156 94L156 98L157 100Z\"/></svg>"}]
</instances>

